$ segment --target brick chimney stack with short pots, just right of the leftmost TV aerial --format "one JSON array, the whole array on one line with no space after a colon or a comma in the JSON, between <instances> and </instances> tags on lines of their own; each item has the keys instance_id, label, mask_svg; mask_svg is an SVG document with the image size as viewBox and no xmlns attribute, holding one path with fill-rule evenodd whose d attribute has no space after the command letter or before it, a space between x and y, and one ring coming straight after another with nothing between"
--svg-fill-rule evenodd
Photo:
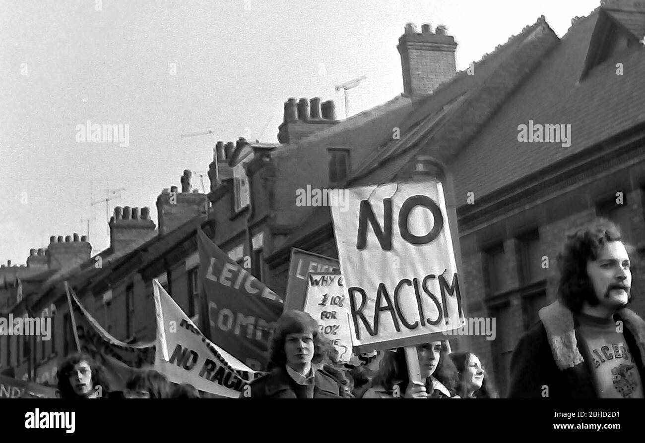
<instances>
[{"instance_id":1,"label":"brick chimney stack with short pots, just right of the leftmost TV aerial","mask_svg":"<svg viewBox=\"0 0 645 443\"><path fill-rule=\"evenodd\" d=\"M155 223L150 220L150 208L114 208L110 218L110 248L114 252L132 250L155 236Z\"/></svg>"}]
</instances>

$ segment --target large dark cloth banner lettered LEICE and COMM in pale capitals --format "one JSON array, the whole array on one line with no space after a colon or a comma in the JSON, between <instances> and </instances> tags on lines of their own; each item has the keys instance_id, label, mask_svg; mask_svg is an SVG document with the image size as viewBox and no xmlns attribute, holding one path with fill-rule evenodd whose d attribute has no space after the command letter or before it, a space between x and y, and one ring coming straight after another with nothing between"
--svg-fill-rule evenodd
<instances>
[{"instance_id":1,"label":"large dark cloth banner lettered LEICE and COMM in pale capitals","mask_svg":"<svg viewBox=\"0 0 645 443\"><path fill-rule=\"evenodd\" d=\"M253 370L265 370L268 341L283 299L199 236L199 276L208 303L210 339Z\"/></svg>"}]
</instances>

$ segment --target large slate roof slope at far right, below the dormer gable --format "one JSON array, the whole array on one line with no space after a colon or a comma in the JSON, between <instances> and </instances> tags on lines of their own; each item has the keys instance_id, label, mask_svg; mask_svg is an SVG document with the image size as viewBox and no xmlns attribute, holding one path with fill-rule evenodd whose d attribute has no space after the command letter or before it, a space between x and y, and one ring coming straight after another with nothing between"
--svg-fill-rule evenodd
<instances>
[{"instance_id":1,"label":"large slate roof slope at far right, below the dormer gable","mask_svg":"<svg viewBox=\"0 0 645 443\"><path fill-rule=\"evenodd\" d=\"M451 165L455 194L477 191L479 196L485 196L497 190L512 190L531 174L539 176L549 165L645 122L642 46L611 55L580 80L587 54L593 50L589 48L591 35L600 14L606 12L599 10L571 26L557 47L459 154ZM623 75L617 75L619 62L624 66ZM570 124L571 146L518 142L517 127L529 120L535 124Z\"/></svg>"}]
</instances>

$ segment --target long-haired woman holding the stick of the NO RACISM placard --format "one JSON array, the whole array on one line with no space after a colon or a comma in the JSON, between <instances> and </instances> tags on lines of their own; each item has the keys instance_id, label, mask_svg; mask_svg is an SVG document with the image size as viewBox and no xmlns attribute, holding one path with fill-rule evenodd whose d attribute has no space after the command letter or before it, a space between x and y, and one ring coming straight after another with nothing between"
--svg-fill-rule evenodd
<instances>
[{"instance_id":1,"label":"long-haired woman holding the stick of the NO RACISM placard","mask_svg":"<svg viewBox=\"0 0 645 443\"><path fill-rule=\"evenodd\" d=\"M452 399L459 398L446 384L456 384L457 370L448 357L448 344L444 341L419 344L419 368L424 383L410 382L408 364L403 348L386 352L379 371L372 379L372 386L363 399ZM441 374L442 381L435 375Z\"/></svg>"}]
</instances>

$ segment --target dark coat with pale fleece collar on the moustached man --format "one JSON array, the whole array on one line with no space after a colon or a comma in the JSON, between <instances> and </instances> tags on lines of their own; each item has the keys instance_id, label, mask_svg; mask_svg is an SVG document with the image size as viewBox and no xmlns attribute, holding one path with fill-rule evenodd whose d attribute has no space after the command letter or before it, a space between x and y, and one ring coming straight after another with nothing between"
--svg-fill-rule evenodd
<instances>
[{"instance_id":1,"label":"dark coat with pale fleece collar on the moustached man","mask_svg":"<svg viewBox=\"0 0 645 443\"><path fill-rule=\"evenodd\" d=\"M511 357L509 398L598 398L586 362L592 361L578 322L561 301L539 311L540 321L522 335ZM622 321L626 344L645 382L645 321L627 308L614 315Z\"/></svg>"}]
</instances>

